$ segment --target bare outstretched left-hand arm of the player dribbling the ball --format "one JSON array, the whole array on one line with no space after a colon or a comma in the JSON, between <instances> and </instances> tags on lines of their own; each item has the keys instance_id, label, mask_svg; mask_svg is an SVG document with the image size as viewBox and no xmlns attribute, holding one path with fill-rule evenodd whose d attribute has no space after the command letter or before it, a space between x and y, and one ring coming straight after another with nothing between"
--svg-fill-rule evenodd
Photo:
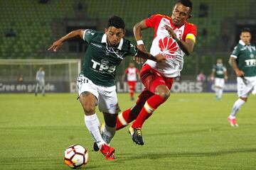
<instances>
[{"instance_id":1,"label":"bare outstretched left-hand arm of the player dribbling the ball","mask_svg":"<svg viewBox=\"0 0 256 170\"><path fill-rule=\"evenodd\" d=\"M63 42L70 40L70 38L74 38L76 36L80 36L80 38L82 38L82 35L84 33L85 30L73 30L70 33L68 33L67 35L63 36L62 38L60 38L59 40L56 40L55 42L53 42L53 45L51 45L48 50L49 51L53 51L56 52L61 45L63 45Z\"/></svg>"}]
</instances>

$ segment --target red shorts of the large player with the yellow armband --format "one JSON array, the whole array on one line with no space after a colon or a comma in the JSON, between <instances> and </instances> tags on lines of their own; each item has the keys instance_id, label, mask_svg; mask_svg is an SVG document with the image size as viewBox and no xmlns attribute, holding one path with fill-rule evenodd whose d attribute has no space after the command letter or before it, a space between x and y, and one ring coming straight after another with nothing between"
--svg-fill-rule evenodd
<instances>
[{"instance_id":1,"label":"red shorts of the large player with the yellow armband","mask_svg":"<svg viewBox=\"0 0 256 170\"><path fill-rule=\"evenodd\" d=\"M173 77L164 77L155 69L152 69L149 64L144 64L140 72L142 84L144 84L147 91L155 93L156 86L165 85L169 90L174 82Z\"/></svg>"}]
</instances>

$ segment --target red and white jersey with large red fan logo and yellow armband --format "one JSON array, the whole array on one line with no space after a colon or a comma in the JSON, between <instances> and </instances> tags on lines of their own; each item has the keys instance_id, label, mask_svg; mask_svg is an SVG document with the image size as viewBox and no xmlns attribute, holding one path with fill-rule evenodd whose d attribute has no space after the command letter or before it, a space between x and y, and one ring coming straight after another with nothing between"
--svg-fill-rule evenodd
<instances>
[{"instance_id":1,"label":"red and white jersey with large red fan logo and yellow armband","mask_svg":"<svg viewBox=\"0 0 256 170\"><path fill-rule=\"evenodd\" d=\"M147 60L153 69L159 71L164 77L177 77L183 69L183 56L185 52L181 50L178 43L170 37L168 31L164 28L168 25L173 28L178 38L186 40L187 38L196 42L196 25L184 23L183 26L175 27L169 16L155 14L146 18L146 26L154 28L154 40L152 42L150 53L158 55L159 53L166 56L166 62L154 62Z\"/></svg>"}]
</instances>

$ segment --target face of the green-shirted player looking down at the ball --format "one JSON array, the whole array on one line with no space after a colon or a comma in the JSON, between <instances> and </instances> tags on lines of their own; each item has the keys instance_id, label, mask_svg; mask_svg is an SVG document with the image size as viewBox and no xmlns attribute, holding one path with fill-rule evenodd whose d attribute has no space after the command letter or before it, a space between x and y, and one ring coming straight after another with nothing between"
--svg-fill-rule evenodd
<instances>
[{"instance_id":1,"label":"face of the green-shirted player looking down at the ball","mask_svg":"<svg viewBox=\"0 0 256 170\"><path fill-rule=\"evenodd\" d=\"M114 26L106 28L105 33L107 34L107 42L112 47L117 47L120 40L124 37L124 30L122 28L115 28Z\"/></svg>"}]
</instances>

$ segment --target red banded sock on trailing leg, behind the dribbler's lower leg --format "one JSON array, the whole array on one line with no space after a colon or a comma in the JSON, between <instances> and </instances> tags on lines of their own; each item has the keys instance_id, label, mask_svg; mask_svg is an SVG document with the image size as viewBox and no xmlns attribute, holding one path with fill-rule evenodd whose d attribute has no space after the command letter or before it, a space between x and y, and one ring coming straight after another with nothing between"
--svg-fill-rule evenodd
<instances>
[{"instance_id":1,"label":"red banded sock on trailing leg, behind the dribbler's lower leg","mask_svg":"<svg viewBox=\"0 0 256 170\"><path fill-rule=\"evenodd\" d=\"M135 119L134 116L132 116L130 111L131 111L131 108L128 108L126 111L119 113L119 115L117 116L116 130L124 128Z\"/></svg>"}]
</instances>

